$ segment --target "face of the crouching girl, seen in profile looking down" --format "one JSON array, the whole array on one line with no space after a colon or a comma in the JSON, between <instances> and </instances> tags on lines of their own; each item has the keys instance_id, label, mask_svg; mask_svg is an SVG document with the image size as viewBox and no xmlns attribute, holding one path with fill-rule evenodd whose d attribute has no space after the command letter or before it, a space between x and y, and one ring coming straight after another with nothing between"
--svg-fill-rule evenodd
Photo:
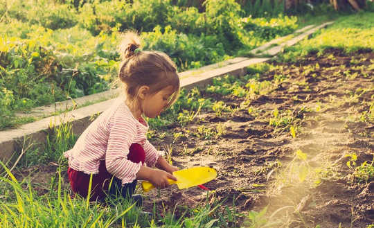
<instances>
[{"instance_id":1,"label":"face of the crouching girl, seen in profile looking down","mask_svg":"<svg viewBox=\"0 0 374 228\"><path fill-rule=\"evenodd\" d=\"M156 94L145 96L142 104L145 116L149 118L159 116L166 105L168 105L169 98L173 93L173 87L170 85L161 89Z\"/></svg>"}]
</instances>

